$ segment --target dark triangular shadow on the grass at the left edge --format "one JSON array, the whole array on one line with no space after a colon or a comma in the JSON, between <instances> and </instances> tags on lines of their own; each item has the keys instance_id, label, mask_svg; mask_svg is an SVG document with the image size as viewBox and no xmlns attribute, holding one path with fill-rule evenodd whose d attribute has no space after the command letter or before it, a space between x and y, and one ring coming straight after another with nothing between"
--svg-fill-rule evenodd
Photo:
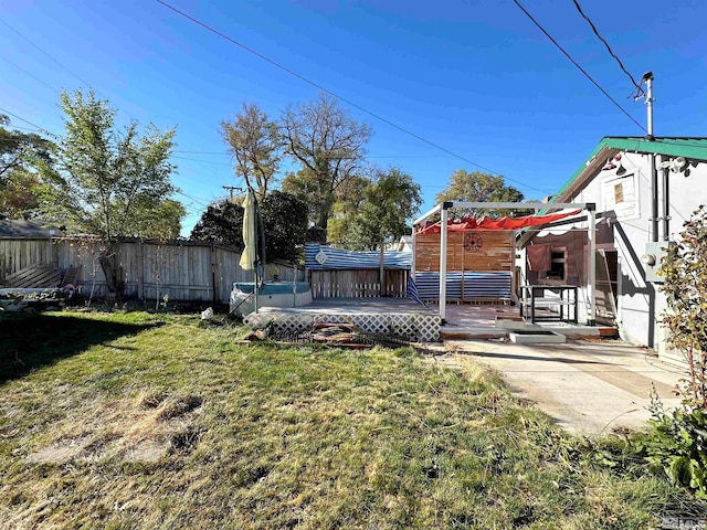
<instances>
[{"instance_id":1,"label":"dark triangular shadow on the grass at the left edge","mask_svg":"<svg viewBox=\"0 0 707 530\"><path fill-rule=\"evenodd\" d=\"M162 322L84 318L78 314L0 315L0 384L92 346L105 346L157 326Z\"/></svg>"}]
</instances>

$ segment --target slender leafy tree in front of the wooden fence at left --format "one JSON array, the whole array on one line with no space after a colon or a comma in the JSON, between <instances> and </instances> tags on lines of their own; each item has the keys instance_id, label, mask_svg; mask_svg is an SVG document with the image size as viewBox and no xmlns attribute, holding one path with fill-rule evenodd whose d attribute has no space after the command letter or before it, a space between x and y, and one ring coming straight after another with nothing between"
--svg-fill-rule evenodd
<instances>
[{"instance_id":1,"label":"slender leafy tree in front of the wooden fence at left","mask_svg":"<svg viewBox=\"0 0 707 530\"><path fill-rule=\"evenodd\" d=\"M105 242L98 261L108 290L119 296L120 241L150 236L149 220L169 209L165 203L176 191L170 181L175 167L169 162L176 130L160 131L150 124L140 135L135 123L118 130L115 109L96 99L93 91L62 93L60 108L65 134L57 140L56 163L43 171L52 188L52 200L43 208L71 232Z\"/></svg>"}]
</instances>

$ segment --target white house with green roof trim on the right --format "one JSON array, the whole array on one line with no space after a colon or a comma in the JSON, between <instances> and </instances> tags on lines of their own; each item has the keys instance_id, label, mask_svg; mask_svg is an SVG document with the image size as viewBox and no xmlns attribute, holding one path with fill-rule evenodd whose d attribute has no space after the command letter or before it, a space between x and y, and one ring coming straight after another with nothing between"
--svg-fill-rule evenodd
<instances>
[{"instance_id":1,"label":"white house with green roof trim on the right","mask_svg":"<svg viewBox=\"0 0 707 530\"><path fill-rule=\"evenodd\" d=\"M707 203L707 138L603 138L548 211L552 202L595 203L597 320L664 358L678 356L665 347L659 320L666 304L655 272L663 248ZM518 240L526 251L521 280L577 285L587 308L587 241L584 216L527 231Z\"/></svg>"}]
</instances>

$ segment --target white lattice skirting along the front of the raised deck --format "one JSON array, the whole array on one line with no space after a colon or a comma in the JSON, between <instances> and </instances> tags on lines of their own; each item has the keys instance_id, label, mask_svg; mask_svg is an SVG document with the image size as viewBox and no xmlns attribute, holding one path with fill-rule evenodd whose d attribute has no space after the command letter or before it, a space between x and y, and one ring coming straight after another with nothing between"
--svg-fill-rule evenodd
<instances>
[{"instance_id":1,"label":"white lattice skirting along the front of the raised deck","mask_svg":"<svg viewBox=\"0 0 707 530\"><path fill-rule=\"evenodd\" d=\"M296 333L306 331L315 322L352 324L370 333L404 337L418 342L436 342L440 340L440 316L420 314L387 314L387 315L316 315L265 312L250 314L243 322L251 329L264 329L272 326L272 330L279 333Z\"/></svg>"}]
</instances>

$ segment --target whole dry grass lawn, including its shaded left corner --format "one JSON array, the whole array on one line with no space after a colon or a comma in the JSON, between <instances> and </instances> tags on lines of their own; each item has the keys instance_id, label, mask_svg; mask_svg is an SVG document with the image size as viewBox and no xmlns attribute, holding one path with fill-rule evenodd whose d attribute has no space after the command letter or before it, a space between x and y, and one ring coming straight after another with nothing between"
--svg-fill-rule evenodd
<instances>
[{"instance_id":1,"label":"whole dry grass lawn, including its shaded left corner","mask_svg":"<svg viewBox=\"0 0 707 530\"><path fill-rule=\"evenodd\" d=\"M650 528L699 505L481 369L238 346L183 316L0 316L0 528Z\"/></svg>"}]
</instances>

